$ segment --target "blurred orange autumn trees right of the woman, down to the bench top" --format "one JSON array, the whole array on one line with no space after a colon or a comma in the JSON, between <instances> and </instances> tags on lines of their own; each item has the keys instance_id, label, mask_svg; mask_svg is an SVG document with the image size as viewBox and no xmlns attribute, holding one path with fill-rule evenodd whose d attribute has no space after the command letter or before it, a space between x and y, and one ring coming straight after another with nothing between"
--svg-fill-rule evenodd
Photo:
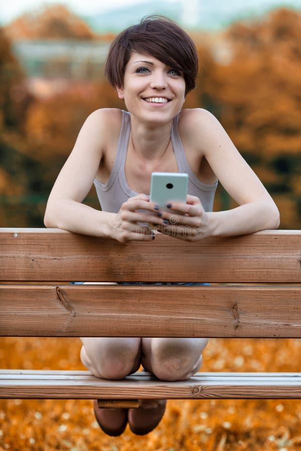
<instances>
[{"instance_id":1,"label":"blurred orange autumn trees right of the woman, down to the bench top","mask_svg":"<svg viewBox=\"0 0 301 451\"><path fill-rule=\"evenodd\" d=\"M224 35L205 93L236 146L280 208L282 228L301 225L301 14L279 9ZM204 88L203 88L204 89Z\"/></svg>"}]
</instances>

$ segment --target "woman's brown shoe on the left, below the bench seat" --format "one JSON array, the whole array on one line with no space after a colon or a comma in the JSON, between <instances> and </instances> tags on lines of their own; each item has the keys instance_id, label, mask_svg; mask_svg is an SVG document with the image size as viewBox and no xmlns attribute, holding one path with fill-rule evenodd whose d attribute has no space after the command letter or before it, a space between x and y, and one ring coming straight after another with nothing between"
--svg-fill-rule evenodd
<instances>
[{"instance_id":1,"label":"woman's brown shoe on the left, below the bench seat","mask_svg":"<svg viewBox=\"0 0 301 451\"><path fill-rule=\"evenodd\" d=\"M93 405L95 418L100 428L113 437L122 434L127 424L128 409L100 409L96 399Z\"/></svg>"}]
</instances>

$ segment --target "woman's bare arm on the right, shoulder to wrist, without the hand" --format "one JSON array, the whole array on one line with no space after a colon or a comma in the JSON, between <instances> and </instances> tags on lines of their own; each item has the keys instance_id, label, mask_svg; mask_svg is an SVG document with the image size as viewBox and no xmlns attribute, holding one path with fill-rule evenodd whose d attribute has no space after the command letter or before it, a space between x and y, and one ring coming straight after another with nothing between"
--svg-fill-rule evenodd
<instances>
[{"instance_id":1,"label":"woman's bare arm on the right, shoulder to wrist, without the hand","mask_svg":"<svg viewBox=\"0 0 301 451\"><path fill-rule=\"evenodd\" d=\"M208 213L213 235L243 235L279 226L279 211L273 199L240 155L219 121L201 110L204 156L217 178L240 205Z\"/></svg>"}]
</instances>

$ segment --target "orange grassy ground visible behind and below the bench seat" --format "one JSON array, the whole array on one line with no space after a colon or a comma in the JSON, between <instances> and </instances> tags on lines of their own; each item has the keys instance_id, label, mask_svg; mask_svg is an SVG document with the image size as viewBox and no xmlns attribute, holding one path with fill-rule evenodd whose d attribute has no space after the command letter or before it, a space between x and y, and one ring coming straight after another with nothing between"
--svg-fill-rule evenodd
<instances>
[{"instance_id":1,"label":"orange grassy ground visible behind and below the bench seat","mask_svg":"<svg viewBox=\"0 0 301 451\"><path fill-rule=\"evenodd\" d=\"M6 368L84 369L77 338L4 338ZM202 371L298 371L300 340L210 339ZM145 436L102 432L89 400L0 400L1 449L12 451L296 451L299 400L170 400Z\"/></svg>"}]
</instances>

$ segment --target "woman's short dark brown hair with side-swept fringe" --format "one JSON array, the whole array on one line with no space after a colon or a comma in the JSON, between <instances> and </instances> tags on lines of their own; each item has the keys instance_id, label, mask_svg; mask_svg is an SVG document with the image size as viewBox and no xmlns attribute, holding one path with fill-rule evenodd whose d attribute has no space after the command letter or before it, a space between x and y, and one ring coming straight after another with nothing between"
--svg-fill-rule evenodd
<instances>
[{"instance_id":1,"label":"woman's short dark brown hair with side-swept fringe","mask_svg":"<svg viewBox=\"0 0 301 451\"><path fill-rule=\"evenodd\" d=\"M112 42L105 63L111 85L121 88L130 52L147 53L167 66L183 72L185 95L196 87L198 55L193 40L174 21L164 16L147 16L128 27Z\"/></svg>"}]
</instances>

